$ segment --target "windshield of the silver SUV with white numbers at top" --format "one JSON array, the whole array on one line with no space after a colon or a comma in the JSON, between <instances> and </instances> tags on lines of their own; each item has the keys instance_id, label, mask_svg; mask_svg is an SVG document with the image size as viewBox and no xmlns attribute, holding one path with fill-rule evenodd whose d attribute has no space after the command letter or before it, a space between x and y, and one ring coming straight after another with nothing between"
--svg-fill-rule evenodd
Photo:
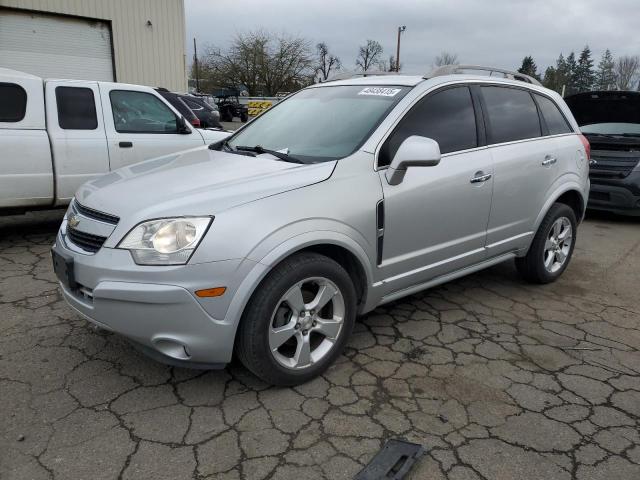
<instances>
[{"instance_id":1,"label":"windshield of the silver SUV with white numbers at top","mask_svg":"<svg viewBox=\"0 0 640 480\"><path fill-rule=\"evenodd\" d=\"M228 144L282 150L307 162L355 152L408 87L326 86L309 88L267 110Z\"/></svg>"}]
</instances>

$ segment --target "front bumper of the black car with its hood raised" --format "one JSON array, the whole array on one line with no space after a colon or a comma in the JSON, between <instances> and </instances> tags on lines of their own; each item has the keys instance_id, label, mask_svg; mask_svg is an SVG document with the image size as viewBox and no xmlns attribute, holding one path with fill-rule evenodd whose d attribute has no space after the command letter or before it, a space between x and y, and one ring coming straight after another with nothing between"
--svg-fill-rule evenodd
<instances>
[{"instance_id":1,"label":"front bumper of the black car with its hood raised","mask_svg":"<svg viewBox=\"0 0 640 480\"><path fill-rule=\"evenodd\" d=\"M640 215L640 171L620 179L591 178L588 208Z\"/></svg>"}]
</instances>

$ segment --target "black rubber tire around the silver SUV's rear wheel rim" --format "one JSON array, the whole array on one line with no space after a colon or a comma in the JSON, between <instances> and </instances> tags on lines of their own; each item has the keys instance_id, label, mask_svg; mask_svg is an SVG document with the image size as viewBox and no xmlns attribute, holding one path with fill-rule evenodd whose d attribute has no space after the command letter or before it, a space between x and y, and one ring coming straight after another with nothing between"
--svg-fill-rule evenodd
<instances>
[{"instance_id":1,"label":"black rubber tire around the silver SUV's rear wheel rim","mask_svg":"<svg viewBox=\"0 0 640 480\"><path fill-rule=\"evenodd\" d=\"M569 247L569 252L562 266L557 271L551 272L547 270L544 264L545 243L551 234L551 229L555 221L562 217L567 218L571 223L572 241ZM542 220L540 227L538 227L538 231L533 237L533 242L531 243L531 247L529 248L527 255L521 258L516 258L516 268L526 281L539 284L551 283L555 282L560 275L562 275L569 265L571 256L573 255L573 250L576 244L577 223L575 212L568 205L565 205L564 203L555 203L551 206Z\"/></svg>"}]
</instances>

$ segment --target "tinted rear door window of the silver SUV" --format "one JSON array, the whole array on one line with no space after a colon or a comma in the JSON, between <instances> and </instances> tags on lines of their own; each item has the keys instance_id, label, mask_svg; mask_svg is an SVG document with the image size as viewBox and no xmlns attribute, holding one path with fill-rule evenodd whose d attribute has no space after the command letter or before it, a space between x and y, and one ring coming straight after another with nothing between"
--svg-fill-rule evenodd
<instances>
[{"instance_id":1,"label":"tinted rear door window of the silver SUV","mask_svg":"<svg viewBox=\"0 0 640 480\"><path fill-rule=\"evenodd\" d=\"M491 126L491 143L513 142L542 135L538 109L526 90L481 87Z\"/></svg>"}]
</instances>

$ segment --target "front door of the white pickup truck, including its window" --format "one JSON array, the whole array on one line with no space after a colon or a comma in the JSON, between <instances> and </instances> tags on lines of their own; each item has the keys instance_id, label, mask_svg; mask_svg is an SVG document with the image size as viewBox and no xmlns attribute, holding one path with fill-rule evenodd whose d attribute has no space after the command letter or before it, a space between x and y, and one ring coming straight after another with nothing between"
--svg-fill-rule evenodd
<instances>
[{"instance_id":1,"label":"front door of the white pickup truck, including its window","mask_svg":"<svg viewBox=\"0 0 640 480\"><path fill-rule=\"evenodd\" d=\"M149 89L100 84L110 169L204 144L191 127L178 132L179 114Z\"/></svg>"}]
</instances>

